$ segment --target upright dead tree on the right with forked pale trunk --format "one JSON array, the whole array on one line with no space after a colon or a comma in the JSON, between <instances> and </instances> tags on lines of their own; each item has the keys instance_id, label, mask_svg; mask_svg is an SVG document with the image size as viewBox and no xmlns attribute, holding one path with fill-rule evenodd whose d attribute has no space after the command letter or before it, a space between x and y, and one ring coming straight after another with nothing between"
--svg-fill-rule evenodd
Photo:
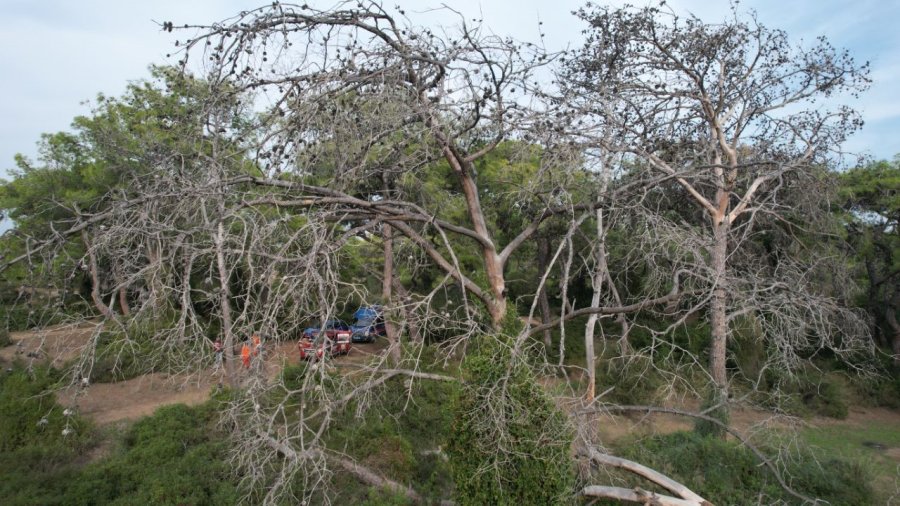
<instances>
[{"instance_id":1,"label":"upright dead tree on the right with forked pale trunk","mask_svg":"<svg viewBox=\"0 0 900 506\"><path fill-rule=\"evenodd\" d=\"M784 188L812 185L829 153L859 127L851 109L827 105L863 90L868 68L824 39L798 47L736 12L720 24L656 7L577 14L589 26L587 41L570 55L561 81L573 109L603 132L593 142L657 178L654 184L677 185L702 212L705 252L691 275L707 290L709 373L724 398L729 321L746 310L745 281L759 274L741 244L759 217L792 208ZM837 334L859 330L841 327L840 318L816 329L831 336L823 346L840 347ZM769 337L785 349L808 338L802 324L779 330L787 335Z\"/></svg>"}]
</instances>

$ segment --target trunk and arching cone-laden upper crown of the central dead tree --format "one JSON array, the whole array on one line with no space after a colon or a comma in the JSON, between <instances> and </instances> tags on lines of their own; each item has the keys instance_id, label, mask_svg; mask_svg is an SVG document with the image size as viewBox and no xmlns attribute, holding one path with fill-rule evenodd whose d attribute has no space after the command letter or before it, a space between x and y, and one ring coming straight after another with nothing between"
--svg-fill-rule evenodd
<instances>
[{"instance_id":1,"label":"trunk and arching cone-laden upper crown of the central dead tree","mask_svg":"<svg viewBox=\"0 0 900 506\"><path fill-rule=\"evenodd\" d=\"M185 60L202 58L213 86L269 97L259 125L266 133L253 147L263 174L235 184L303 196L290 205L305 212L328 206L332 216L347 213L347 221L388 223L474 296L496 326L507 307L504 266L536 226L508 245L496 243L475 162L530 126L533 113L517 95L528 92L545 57L464 22L442 35L401 21L377 4L319 11L276 3L198 27ZM451 170L467 223L445 222L417 205L416 170L437 161ZM387 189L365 184L383 180L382 172L397 180L387 198ZM324 184L310 184L317 177ZM477 247L484 284L461 272L422 225Z\"/></svg>"}]
</instances>

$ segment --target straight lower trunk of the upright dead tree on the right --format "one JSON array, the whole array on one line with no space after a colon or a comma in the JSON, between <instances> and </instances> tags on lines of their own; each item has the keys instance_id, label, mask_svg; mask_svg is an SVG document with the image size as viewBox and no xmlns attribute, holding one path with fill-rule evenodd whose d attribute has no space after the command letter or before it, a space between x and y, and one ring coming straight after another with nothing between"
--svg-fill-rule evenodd
<instances>
[{"instance_id":1,"label":"straight lower trunk of the upright dead tree on the right","mask_svg":"<svg viewBox=\"0 0 900 506\"><path fill-rule=\"evenodd\" d=\"M728 223L713 222L713 246L710 251L713 274L715 276L712 299L710 300L709 320L712 342L709 352L709 371L715 387L716 397L724 399L727 394L727 375L725 357L728 344L728 286L726 265L728 257Z\"/></svg>"}]
</instances>

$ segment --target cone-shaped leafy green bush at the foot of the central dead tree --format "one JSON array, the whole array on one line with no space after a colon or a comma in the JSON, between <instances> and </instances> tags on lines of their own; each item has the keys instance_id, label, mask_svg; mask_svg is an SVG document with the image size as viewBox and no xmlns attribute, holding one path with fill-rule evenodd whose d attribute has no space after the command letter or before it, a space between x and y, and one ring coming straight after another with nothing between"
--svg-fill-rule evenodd
<instances>
[{"instance_id":1,"label":"cone-shaped leafy green bush at the foot of the central dead tree","mask_svg":"<svg viewBox=\"0 0 900 506\"><path fill-rule=\"evenodd\" d=\"M474 349L473 349L474 348ZM459 504L560 504L572 493L565 417L505 338L470 344L447 454Z\"/></svg>"}]
</instances>

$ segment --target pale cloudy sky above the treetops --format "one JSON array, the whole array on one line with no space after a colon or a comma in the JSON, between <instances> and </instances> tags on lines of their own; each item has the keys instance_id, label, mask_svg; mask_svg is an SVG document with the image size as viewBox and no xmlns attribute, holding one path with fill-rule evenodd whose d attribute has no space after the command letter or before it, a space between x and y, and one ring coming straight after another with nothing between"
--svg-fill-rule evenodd
<instances>
[{"instance_id":1,"label":"pale cloudy sky above the treetops","mask_svg":"<svg viewBox=\"0 0 900 506\"><path fill-rule=\"evenodd\" d=\"M642 4L645 0L632 0ZM301 1L300 3L304 3ZM334 2L306 0L318 7ZM577 45L582 24L571 11L579 0L388 0L412 12L445 3L484 19L501 35L538 38L542 22L549 49ZM602 2L595 2L602 3ZM622 2L613 2L622 3ZM722 20L727 0L670 0L676 12ZM36 155L43 132L69 129L90 109L97 93L119 95L132 80L147 76L151 63L166 63L174 39L157 23L207 23L261 5L250 0L0 0L0 175L13 156ZM866 126L847 147L875 158L900 152L900 0L744 0L760 20L786 30L794 40L824 35L872 64L871 89L850 105Z\"/></svg>"}]
</instances>

